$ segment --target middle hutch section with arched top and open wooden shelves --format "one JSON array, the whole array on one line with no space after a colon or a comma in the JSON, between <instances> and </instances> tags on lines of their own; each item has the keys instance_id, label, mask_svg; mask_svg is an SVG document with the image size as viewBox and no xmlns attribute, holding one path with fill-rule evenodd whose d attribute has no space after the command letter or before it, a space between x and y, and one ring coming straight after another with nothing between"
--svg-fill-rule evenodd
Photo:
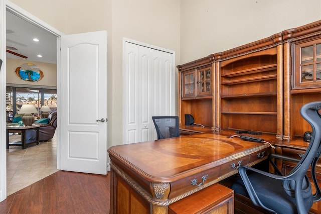
<instances>
[{"instance_id":1,"label":"middle hutch section with arched top and open wooden shelves","mask_svg":"<svg viewBox=\"0 0 321 214\"><path fill-rule=\"evenodd\" d=\"M216 130L252 130L283 136L281 33L214 54Z\"/></svg>"}]
</instances>

